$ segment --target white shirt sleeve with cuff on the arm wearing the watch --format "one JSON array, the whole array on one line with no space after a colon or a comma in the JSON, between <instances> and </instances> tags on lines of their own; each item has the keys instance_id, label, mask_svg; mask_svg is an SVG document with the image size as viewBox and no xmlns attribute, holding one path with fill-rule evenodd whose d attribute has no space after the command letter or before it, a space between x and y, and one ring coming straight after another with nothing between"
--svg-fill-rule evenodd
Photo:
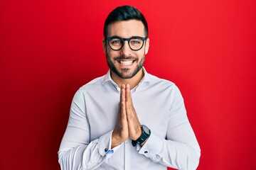
<instances>
[{"instance_id":1,"label":"white shirt sleeve with cuff on the arm wearing the watch","mask_svg":"<svg viewBox=\"0 0 256 170\"><path fill-rule=\"evenodd\" d=\"M175 86L171 94L171 109L166 139L151 130L151 135L143 147L137 148L154 162L175 169L196 169L201 149L186 115L180 91Z\"/></svg>"}]
</instances>

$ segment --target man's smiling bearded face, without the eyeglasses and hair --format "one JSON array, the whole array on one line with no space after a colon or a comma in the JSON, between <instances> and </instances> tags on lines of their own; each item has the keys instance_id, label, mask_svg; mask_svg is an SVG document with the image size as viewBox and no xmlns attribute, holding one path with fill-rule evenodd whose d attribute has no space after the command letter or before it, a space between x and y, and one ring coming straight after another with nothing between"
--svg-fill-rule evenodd
<instances>
[{"instance_id":1,"label":"man's smiling bearded face, without the eyeglasses and hair","mask_svg":"<svg viewBox=\"0 0 256 170\"><path fill-rule=\"evenodd\" d=\"M134 36L144 38L144 25L142 21L137 20L117 21L108 27L107 37L114 35L121 38ZM107 56L107 64L112 73L117 74L122 79L129 79L142 69L145 55L149 50L149 39L145 40L142 49L138 51L132 50L127 41L124 41L122 49L118 51L112 50L106 40L103 40L103 47Z\"/></svg>"}]
</instances>

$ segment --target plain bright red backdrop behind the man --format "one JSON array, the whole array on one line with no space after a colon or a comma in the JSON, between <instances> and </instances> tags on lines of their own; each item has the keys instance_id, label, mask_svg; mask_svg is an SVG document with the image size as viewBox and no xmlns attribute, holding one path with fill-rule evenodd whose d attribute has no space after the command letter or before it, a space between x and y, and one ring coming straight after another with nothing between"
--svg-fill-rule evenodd
<instances>
[{"instance_id":1,"label":"plain bright red backdrop behind the man","mask_svg":"<svg viewBox=\"0 0 256 170\"><path fill-rule=\"evenodd\" d=\"M256 1L0 1L0 169L60 169L75 91L107 72L116 6L149 23L146 70L174 81L201 145L198 169L256 169Z\"/></svg>"}]
</instances>

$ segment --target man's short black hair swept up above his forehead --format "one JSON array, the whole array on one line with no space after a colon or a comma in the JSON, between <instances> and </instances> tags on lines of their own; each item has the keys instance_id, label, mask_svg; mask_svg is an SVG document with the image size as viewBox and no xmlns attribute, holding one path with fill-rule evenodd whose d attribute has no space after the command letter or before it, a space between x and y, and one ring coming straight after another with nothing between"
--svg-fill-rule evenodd
<instances>
[{"instance_id":1,"label":"man's short black hair swept up above his forehead","mask_svg":"<svg viewBox=\"0 0 256 170\"><path fill-rule=\"evenodd\" d=\"M144 18L143 14L133 6L119 6L117 8L114 8L114 10L110 12L104 24L104 37L107 38L107 29L111 23L114 23L116 21L128 21L132 19L142 21L144 25L145 35L147 37L149 35L149 28L147 26L146 19Z\"/></svg>"}]
</instances>

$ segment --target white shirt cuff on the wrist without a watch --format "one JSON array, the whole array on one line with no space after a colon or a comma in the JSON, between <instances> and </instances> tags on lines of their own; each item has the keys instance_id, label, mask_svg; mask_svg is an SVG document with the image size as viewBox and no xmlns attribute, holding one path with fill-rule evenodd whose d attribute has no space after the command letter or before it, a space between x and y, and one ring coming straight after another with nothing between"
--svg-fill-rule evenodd
<instances>
[{"instance_id":1,"label":"white shirt cuff on the wrist without a watch","mask_svg":"<svg viewBox=\"0 0 256 170\"><path fill-rule=\"evenodd\" d=\"M112 157L115 151L119 149L121 145L118 145L117 147L114 147L111 149L111 143L112 143L112 131L107 132L105 135L102 135L99 138L98 141L98 147L99 147L99 153L102 155L102 157L105 157L106 159Z\"/></svg>"}]
</instances>

